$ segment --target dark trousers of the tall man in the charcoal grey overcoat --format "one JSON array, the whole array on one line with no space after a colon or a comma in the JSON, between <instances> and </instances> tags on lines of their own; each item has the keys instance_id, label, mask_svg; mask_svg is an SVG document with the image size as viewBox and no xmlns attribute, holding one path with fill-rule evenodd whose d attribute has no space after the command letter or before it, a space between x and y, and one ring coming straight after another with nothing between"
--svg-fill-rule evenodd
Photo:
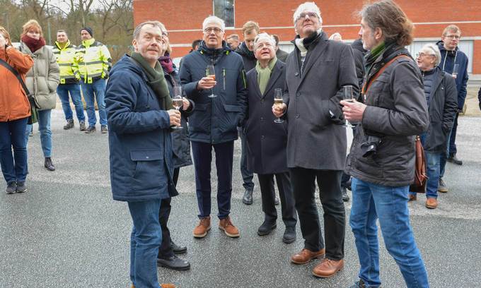
<instances>
[{"instance_id":1,"label":"dark trousers of the tall man in the charcoal grey overcoat","mask_svg":"<svg viewBox=\"0 0 481 288\"><path fill-rule=\"evenodd\" d=\"M344 229L346 215L341 192L342 171L292 168L296 210L299 215L304 247L319 251L325 247L326 258L344 258ZM319 186L320 203L324 210L325 245L320 231L318 207L315 205L315 180Z\"/></svg>"}]
</instances>

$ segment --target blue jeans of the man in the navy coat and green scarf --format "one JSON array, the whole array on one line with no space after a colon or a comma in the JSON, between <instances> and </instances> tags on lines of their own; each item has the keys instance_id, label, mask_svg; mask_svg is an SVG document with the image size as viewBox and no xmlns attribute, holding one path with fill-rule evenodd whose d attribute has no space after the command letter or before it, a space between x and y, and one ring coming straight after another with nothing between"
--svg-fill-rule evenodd
<instances>
[{"instance_id":1,"label":"blue jeans of the man in the navy coat and green scarf","mask_svg":"<svg viewBox=\"0 0 481 288\"><path fill-rule=\"evenodd\" d=\"M130 280L136 288L160 288L157 279L157 254L162 231L158 222L161 200L129 202L134 222L130 238Z\"/></svg>"}]
</instances>

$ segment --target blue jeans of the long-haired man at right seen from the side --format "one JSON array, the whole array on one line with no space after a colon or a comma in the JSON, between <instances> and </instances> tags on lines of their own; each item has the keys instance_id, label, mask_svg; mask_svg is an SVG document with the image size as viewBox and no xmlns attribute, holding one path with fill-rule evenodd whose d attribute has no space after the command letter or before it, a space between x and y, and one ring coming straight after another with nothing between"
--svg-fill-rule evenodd
<instances>
[{"instance_id":1,"label":"blue jeans of the long-haired man at right seen from the side","mask_svg":"<svg viewBox=\"0 0 481 288\"><path fill-rule=\"evenodd\" d=\"M409 186L390 187L352 179L349 224L354 233L361 278L368 287L379 287L379 219L384 243L401 270L408 288L429 287L426 268L410 226Z\"/></svg>"}]
</instances>

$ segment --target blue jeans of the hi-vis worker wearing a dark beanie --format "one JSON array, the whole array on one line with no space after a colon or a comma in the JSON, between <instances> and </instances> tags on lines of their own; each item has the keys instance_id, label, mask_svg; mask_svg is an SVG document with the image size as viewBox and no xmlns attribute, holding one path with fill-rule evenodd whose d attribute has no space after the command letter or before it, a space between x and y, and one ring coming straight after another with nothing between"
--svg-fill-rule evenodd
<instances>
[{"instance_id":1,"label":"blue jeans of the hi-vis worker wearing a dark beanie","mask_svg":"<svg viewBox=\"0 0 481 288\"><path fill-rule=\"evenodd\" d=\"M96 80L92 84L81 81L81 86L83 98L87 103L88 126L95 126L97 123L97 117L95 116L95 99L97 100L100 125L107 125L107 112L105 112L105 79Z\"/></svg>"}]
</instances>

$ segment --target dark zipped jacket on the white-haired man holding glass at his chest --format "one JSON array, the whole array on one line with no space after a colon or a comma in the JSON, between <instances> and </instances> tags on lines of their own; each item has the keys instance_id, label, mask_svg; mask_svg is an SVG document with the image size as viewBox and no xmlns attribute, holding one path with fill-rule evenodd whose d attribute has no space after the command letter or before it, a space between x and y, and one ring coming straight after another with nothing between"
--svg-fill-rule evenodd
<instances>
[{"instance_id":1,"label":"dark zipped jacket on the white-haired man holding glass at his chest","mask_svg":"<svg viewBox=\"0 0 481 288\"><path fill-rule=\"evenodd\" d=\"M197 90L197 83L206 76L206 67L214 64L217 97L209 98L211 90ZM209 49L202 42L197 51L187 54L180 69L180 83L187 98L195 102L189 116L191 141L219 144L237 139L237 126L243 126L247 84L244 64L223 42L221 49Z\"/></svg>"}]
</instances>

